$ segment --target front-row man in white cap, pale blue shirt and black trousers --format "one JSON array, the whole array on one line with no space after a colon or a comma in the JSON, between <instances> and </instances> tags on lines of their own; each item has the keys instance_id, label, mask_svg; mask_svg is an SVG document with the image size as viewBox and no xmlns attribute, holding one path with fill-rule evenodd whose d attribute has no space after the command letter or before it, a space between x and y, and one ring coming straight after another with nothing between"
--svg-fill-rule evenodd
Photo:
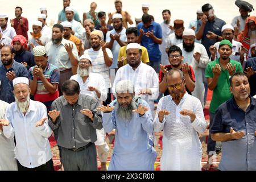
<instances>
[{"instance_id":1,"label":"front-row man in white cap, pale blue shirt and black trousers","mask_svg":"<svg viewBox=\"0 0 256 182\"><path fill-rule=\"evenodd\" d=\"M13 86L16 102L6 109L3 134L6 138L15 136L18 170L53 171L48 140L52 130L48 126L46 106L30 100L28 78L15 78Z\"/></svg>"}]
</instances>

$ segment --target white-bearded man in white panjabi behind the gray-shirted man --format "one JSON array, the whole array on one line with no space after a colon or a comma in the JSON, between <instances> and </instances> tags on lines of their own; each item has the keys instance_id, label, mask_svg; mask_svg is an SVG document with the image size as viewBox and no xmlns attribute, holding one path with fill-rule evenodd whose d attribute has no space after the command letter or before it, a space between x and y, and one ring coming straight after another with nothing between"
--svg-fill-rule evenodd
<instances>
[{"instance_id":1,"label":"white-bearded man in white panjabi behind the gray-shirted man","mask_svg":"<svg viewBox=\"0 0 256 182\"><path fill-rule=\"evenodd\" d=\"M70 79L76 80L80 86L80 93L96 98L101 105L102 101L106 101L108 91L104 77L98 73L92 73L92 59L89 55L82 55L79 59L79 66L77 67L77 75L73 75ZM101 162L101 171L106 171L106 161L108 159L109 146L105 142L105 131L96 130L98 158Z\"/></svg>"}]
</instances>

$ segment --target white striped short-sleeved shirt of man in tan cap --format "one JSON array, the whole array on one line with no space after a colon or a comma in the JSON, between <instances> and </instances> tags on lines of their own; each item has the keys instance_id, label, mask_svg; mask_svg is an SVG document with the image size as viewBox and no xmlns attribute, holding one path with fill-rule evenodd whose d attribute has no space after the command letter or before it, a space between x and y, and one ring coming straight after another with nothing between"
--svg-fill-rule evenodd
<instances>
[{"instance_id":1,"label":"white striped short-sleeved shirt of man in tan cap","mask_svg":"<svg viewBox=\"0 0 256 182\"><path fill-rule=\"evenodd\" d=\"M109 48L106 48L109 58L113 59L112 52ZM92 73L98 73L104 77L106 88L110 88L110 77L109 77L109 67L106 65L104 60L104 54L100 48L98 51L94 51L93 48L84 51L84 54L88 54L92 59Z\"/></svg>"}]
</instances>

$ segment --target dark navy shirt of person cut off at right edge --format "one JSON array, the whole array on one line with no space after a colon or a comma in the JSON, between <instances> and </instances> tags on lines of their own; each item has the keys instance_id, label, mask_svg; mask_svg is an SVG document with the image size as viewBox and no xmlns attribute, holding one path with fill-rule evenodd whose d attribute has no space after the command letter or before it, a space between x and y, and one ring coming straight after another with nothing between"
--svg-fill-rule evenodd
<instances>
[{"instance_id":1,"label":"dark navy shirt of person cut off at right edge","mask_svg":"<svg viewBox=\"0 0 256 182\"><path fill-rule=\"evenodd\" d=\"M256 57L249 58L245 63L245 71L246 68L253 67L253 71L256 71ZM249 78L249 84L251 93L250 95L253 97L256 95L256 73Z\"/></svg>"}]
</instances>

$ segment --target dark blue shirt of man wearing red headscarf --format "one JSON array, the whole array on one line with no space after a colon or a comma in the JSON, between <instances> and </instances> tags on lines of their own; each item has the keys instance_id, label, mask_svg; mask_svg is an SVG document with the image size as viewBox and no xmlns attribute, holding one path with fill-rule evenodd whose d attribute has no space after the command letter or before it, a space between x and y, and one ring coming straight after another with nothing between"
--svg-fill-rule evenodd
<instances>
[{"instance_id":1,"label":"dark blue shirt of man wearing red headscarf","mask_svg":"<svg viewBox=\"0 0 256 182\"><path fill-rule=\"evenodd\" d=\"M31 52L28 52L26 50L23 50L20 53L16 52L14 60L18 63L26 62L28 65L27 70L30 69L30 67L34 67L35 65L34 55L32 55Z\"/></svg>"}]
</instances>

